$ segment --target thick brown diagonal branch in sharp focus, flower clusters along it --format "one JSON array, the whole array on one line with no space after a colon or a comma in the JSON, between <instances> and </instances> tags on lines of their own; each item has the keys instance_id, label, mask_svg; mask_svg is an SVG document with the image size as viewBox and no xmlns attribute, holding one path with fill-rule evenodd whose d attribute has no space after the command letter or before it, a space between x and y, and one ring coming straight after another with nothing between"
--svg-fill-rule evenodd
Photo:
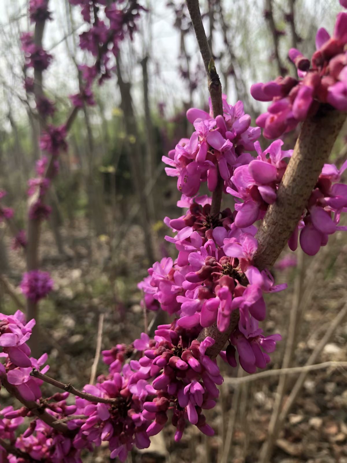
<instances>
[{"instance_id":1,"label":"thick brown diagonal branch in sharp focus, flower clusters along it","mask_svg":"<svg viewBox=\"0 0 347 463\"><path fill-rule=\"evenodd\" d=\"M258 250L254 264L258 269L271 267L291 237L345 120L345 113L321 105L315 116L304 121L277 200L269 206L256 234ZM223 349L237 323L238 314L233 313L226 332L220 333L216 324L200 332L198 341L207 336L216 341L207 350L211 358Z\"/></svg>"}]
</instances>

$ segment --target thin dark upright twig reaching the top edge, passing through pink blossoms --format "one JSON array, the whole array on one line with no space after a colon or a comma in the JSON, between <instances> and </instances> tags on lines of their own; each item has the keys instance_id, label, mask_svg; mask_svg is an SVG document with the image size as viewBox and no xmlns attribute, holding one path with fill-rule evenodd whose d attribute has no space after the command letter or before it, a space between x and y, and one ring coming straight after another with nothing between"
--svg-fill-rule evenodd
<instances>
[{"instance_id":1,"label":"thin dark upright twig reaching the top edge, passing through pink blossoms","mask_svg":"<svg viewBox=\"0 0 347 463\"><path fill-rule=\"evenodd\" d=\"M213 117L223 116L222 85L217 74L211 50L207 41L198 0L186 0L192 25L198 41L200 53L204 61L207 83L211 96ZM223 179L218 172L217 188L212 195L211 215L217 215L221 209L223 195Z\"/></svg>"}]
</instances>

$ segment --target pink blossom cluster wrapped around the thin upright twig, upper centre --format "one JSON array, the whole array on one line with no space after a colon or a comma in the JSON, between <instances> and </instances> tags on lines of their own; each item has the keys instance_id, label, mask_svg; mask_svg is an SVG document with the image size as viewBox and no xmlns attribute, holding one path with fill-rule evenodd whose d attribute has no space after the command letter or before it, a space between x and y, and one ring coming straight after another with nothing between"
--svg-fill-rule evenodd
<instances>
[{"instance_id":1,"label":"pink blossom cluster wrapped around the thin upright twig, upper centre","mask_svg":"<svg viewBox=\"0 0 347 463\"><path fill-rule=\"evenodd\" d=\"M195 131L190 139L182 138L162 161L169 165L167 175L178 177L177 188L186 196L198 193L200 183L214 191L217 172L229 185L234 169L248 164L252 156L245 150L254 150L254 141L260 137L259 127L250 127L251 117L244 113L242 101L229 106L223 95L223 116L214 119L210 100L210 113L191 108L187 119Z\"/></svg>"}]
</instances>

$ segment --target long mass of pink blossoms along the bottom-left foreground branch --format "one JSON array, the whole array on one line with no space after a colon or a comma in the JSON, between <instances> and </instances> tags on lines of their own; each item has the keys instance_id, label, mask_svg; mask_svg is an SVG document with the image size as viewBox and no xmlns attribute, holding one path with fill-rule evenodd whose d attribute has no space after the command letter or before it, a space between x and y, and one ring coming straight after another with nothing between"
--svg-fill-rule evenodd
<instances>
[{"instance_id":1,"label":"long mass of pink blossoms along the bottom-left foreground branch","mask_svg":"<svg viewBox=\"0 0 347 463\"><path fill-rule=\"evenodd\" d=\"M39 370L46 362L44 354L38 360L30 356L26 344L34 325L31 320L25 325L24 315L0 314L0 382L9 383L17 389L23 400L40 404L42 380L30 375L32 368ZM184 330L179 326L162 325L151 340L143 333L132 346L118 345L103 351L109 373L100 375L95 386L86 385L83 391L93 394L89 400L77 397L75 404L67 405L68 393L57 393L44 399L45 412L56 420L72 414L67 432L57 432L42 419L32 419L27 407L14 410L12 407L0 412L1 437L13 448L25 452L31 458L50 463L80 463L81 450L93 451L93 446L108 442L111 458L122 462L133 445L143 449L149 447L149 437L161 431L171 410L172 423L176 427L175 440L182 437L186 420L196 425L201 432L212 435L206 424L203 409L215 405L218 397L216 384L223 381L216 361L205 355L207 347L214 343L206 338L202 343L194 340L198 330ZM124 363L133 350L142 351L139 360ZM45 374L49 367L41 370ZM26 402L24 402L26 405ZM85 416L86 418L80 418ZM31 417L23 434L14 431ZM15 455L0 447L2 457L17 462Z\"/></svg>"}]
</instances>

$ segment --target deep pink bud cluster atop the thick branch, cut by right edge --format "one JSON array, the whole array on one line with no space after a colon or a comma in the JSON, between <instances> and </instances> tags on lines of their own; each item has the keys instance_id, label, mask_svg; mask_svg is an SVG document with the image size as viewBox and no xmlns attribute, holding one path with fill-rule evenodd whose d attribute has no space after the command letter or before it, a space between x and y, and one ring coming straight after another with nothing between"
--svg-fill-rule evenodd
<instances>
[{"instance_id":1,"label":"deep pink bud cluster atop the thick branch, cut by right edge","mask_svg":"<svg viewBox=\"0 0 347 463\"><path fill-rule=\"evenodd\" d=\"M311 60L291 48L289 58L297 67L298 79L277 77L252 85L259 101L272 101L267 112L256 120L265 138L277 138L293 130L300 121L316 113L320 103L347 111L347 13L339 13L332 37L324 28L316 35L316 51Z\"/></svg>"}]
</instances>

